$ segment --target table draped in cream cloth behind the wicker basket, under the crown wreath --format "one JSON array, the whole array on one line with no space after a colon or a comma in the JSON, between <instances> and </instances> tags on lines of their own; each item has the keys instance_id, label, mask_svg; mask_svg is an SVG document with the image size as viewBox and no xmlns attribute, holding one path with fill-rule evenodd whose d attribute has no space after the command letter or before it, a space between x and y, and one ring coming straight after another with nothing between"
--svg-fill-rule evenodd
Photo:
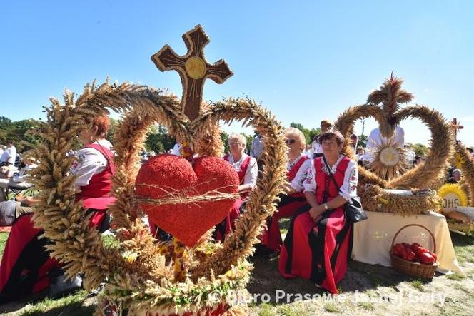
<instances>
[{"instance_id":1,"label":"table draped in cream cloth behind the wicker basket, under the crown wreath","mask_svg":"<svg viewBox=\"0 0 474 316\"><path fill-rule=\"evenodd\" d=\"M354 223L353 260L372 265L391 267L390 245L395 234L405 225L419 224L433 233L438 255L438 272L455 272L465 276L458 265L453 242L444 215L430 212L428 214L401 216L392 213L368 212L368 220ZM395 243L419 243L433 250L433 241L428 233L419 226L403 229Z\"/></svg>"}]
</instances>

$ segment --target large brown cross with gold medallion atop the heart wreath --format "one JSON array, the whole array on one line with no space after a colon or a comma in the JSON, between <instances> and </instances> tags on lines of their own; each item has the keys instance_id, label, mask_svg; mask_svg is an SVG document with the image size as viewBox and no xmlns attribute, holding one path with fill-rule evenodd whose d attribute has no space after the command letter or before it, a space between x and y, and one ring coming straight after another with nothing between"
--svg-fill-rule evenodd
<instances>
[{"instance_id":1,"label":"large brown cross with gold medallion atop the heart wreath","mask_svg":"<svg viewBox=\"0 0 474 316\"><path fill-rule=\"evenodd\" d=\"M182 111L193 121L201 113L204 81L209 78L216 83L223 83L233 73L222 59L213 65L206 61L203 49L209 43L209 38L201 25L186 32L183 41L188 48L185 56L178 56L169 45L165 45L151 56L151 60L161 71L178 71L183 83Z\"/></svg>"}]
</instances>

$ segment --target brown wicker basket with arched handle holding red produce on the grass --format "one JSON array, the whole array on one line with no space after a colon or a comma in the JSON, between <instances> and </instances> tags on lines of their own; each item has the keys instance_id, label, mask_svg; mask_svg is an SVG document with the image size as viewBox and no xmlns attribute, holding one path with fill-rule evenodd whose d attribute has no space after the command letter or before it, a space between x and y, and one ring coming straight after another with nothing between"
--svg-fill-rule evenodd
<instances>
[{"instance_id":1,"label":"brown wicker basket with arched handle holding red produce on the grass","mask_svg":"<svg viewBox=\"0 0 474 316\"><path fill-rule=\"evenodd\" d=\"M396 271L400 273L405 273L407 275L412 275L413 277L423 277L425 279L433 279L433 276L435 275L436 268L438 267L438 263L433 263L433 265L425 265L422 263L414 263L413 261L408 261L405 259L402 259L396 255L393 255L393 244L395 243L395 239L397 238L398 234L404 230L407 227L410 226L419 226L421 228L424 228L425 230L430 233L431 238L433 238L433 253L436 253L436 240L435 236L433 236L433 233L428 230L428 228L425 228L423 225L419 224L410 224L410 225L405 225L398 232L395 234L392 240L392 245L390 246L390 258L392 259L392 267Z\"/></svg>"}]
</instances>

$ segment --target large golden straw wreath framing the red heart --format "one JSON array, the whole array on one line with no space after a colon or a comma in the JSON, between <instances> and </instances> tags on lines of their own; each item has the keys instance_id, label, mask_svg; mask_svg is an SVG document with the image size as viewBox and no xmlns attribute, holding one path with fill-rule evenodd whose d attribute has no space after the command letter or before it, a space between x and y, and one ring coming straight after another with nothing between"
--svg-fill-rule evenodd
<instances>
[{"instance_id":1,"label":"large golden straw wreath framing the red heart","mask_svg":"<svg viewBox=\"0 0 474 316\"><path fill-rule=\"evenodd\" d=\"M207 43L201 26L196 26L183 36L188 49L189 41L195 39L196 33L205 39L200 49ZM193 58L191 63L193 67L188 65L186 68L186 71L191 69L193 75L188 76L192 79L188 78L190 84L203 78L199 70L202 63L212 70L220 61L209 66L202 59ZM191 92L196 91L195 88L196 85ZM183 108L178 98L160 90L130 83L110 84L109 81L101 86L86 85L79 98L66 91L64 103L53 98L51 106L46 108L47 120L40 127L44 141L36 148L40 164L33 172L34 183L40 191L34 222L51 240L48 246L51 255L64 264L67 275L84 272L87 290L106 282L96 315L103 315L106 308L128 308L128 315L144 315L147 311L160 315L198 311L214 311L218 315L246 313L245 305L237 305L241 301L226 299L232 291L239 291L245 298L252 268L246 258L253 253L264 220L276 210L276 197L286 182L283 128L269 111L249 99L227 98L205 107L198 104L197 110ZM84 118L109 111L123 115L114 136L116 174L112 190L116 203L111 205L109 212L120 245L113 250L104 248L101 235L89 229L86 210L74 203L75 177L68 174L74 158L66 155L72 148L74 136L81 128L89 128ZM142 213L135 193L138 151L143 146L148 127L153 123L166 125L199 156L220 157L223 144L219 121L241 121L243 126L253 126L262 135L265 168L250 195L245 213L222 245L211 240L211 231L193 247L183 247L177 242L156 243L140 219ZM186 252L185 265L182 271L177 271L173 260L183 251ZM219 300L211 300L216 291Z\"/></svg>"}]
</instances>

